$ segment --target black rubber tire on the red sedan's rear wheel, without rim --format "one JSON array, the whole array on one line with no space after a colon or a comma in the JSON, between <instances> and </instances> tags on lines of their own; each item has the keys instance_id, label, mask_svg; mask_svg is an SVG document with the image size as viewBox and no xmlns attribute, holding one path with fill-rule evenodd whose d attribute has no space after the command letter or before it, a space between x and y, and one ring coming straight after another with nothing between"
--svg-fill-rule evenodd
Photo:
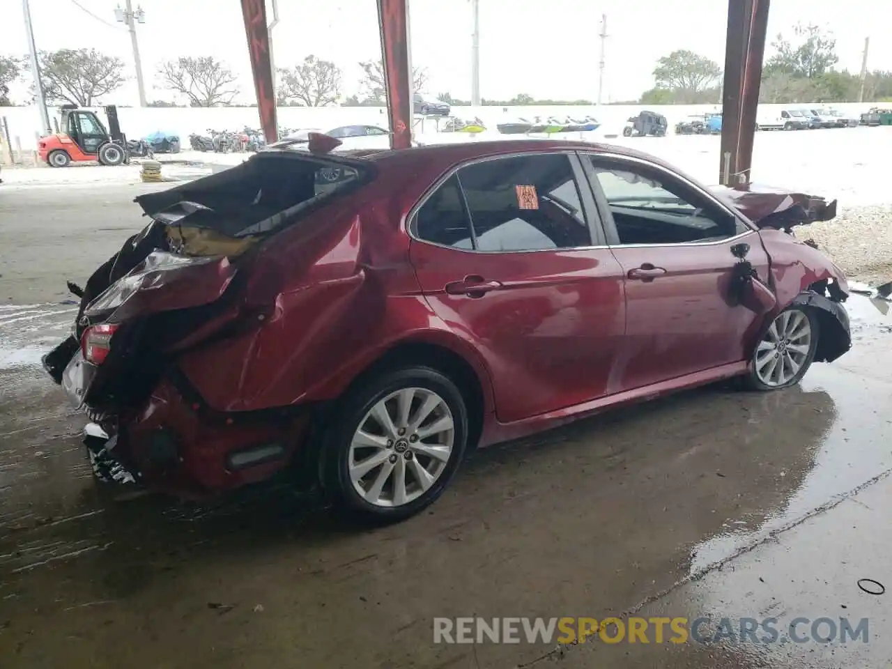
<instances>
[{"instance_id":1,"label":"black rubber tire on the red sedan's rear wheel, without rim","mask_svg":"<svg viewBox=\"0 0 892 669\"><path fill-rule=\"evenodd\" d=\"M441 474L428 490L401 506L377 506L360 496L353 486L349 471L351 442L376 403L402 388L429 390L445 401L452 414L452 449ZM448 376L434 368L412 365L392 369L366 382L360 382L339 402L325 433L322 453L323 483L333 493L338 507L362 522L394 523L414 516L433 504L458 471L467 448L467 407L458 386ZM395 450L396 447L394 455L399 458L400 455ZM409 459L410 456L405 457Z\"/></svg>"}]
</instances>

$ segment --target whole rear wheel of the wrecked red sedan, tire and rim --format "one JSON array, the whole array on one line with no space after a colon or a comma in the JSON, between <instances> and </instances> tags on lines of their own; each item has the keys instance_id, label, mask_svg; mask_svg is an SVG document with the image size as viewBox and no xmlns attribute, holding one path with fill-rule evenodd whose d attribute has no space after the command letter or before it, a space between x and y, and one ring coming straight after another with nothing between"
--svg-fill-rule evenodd
<instances>
[{"instance_id":1,"label":"whole rear wheel of the wrecked red sedan, tire and rim","mask_svg":"<svg viewBox=\"0 0 892 669\"><path fill-rule=\"evenodd\" d=\"M433 368L384 373L352 391L326 439L326 484L373 522L414 516L449 485L467 445L467 407Z\"/></svg>"}]
</instances>

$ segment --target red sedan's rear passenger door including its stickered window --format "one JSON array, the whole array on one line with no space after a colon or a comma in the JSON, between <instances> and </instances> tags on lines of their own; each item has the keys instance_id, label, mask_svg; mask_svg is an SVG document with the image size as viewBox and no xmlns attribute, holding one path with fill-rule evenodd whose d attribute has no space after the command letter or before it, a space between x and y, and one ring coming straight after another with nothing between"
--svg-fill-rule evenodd
<instances>
[{"instance_id":1,"label":"red sedan's rear passenger door including its stickered window","mask_svg":"<svg viewBox=\"0 0 892 669\"><path fill-rule=\"evenodd\" d=\"M411 260L436 314L481 351L511 422L611 392L623 273L573 153L456 169L410 221Z\"/></svg>"}]
</instances>

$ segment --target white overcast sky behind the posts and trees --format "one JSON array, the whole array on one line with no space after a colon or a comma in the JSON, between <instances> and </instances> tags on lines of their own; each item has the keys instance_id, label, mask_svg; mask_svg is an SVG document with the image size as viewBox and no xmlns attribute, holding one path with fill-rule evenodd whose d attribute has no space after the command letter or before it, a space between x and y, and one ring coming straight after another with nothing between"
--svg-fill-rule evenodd
<instances>
[{"instance_id":1,"label":"white overcast sky behind the posts and trees","mask_svg":"<svg viewBox=\"0 0 892 669\"><path fill-rule=\"evenodd\" d=\"M95 47L120 56L131 81L103 102L136 103L130 39L114 20L117 0L30 4L38 49ZM172 99L157 87L155 70L159 62L179 55L226 61L243 78L243 97L253 95L239 0L141 4L145 23L136 29L150 100ZM599 21L606 13L604 101L636 99L653 85L657 59L674 49L690 49L722 64L726 11L725 0L480 0L482 95L595 99ZM345 95L357 92L358 62L381 53L375 0L279 0L279 12L281 22L273 31L277 66L315 54L343 69ZM791 33L797 21L827 26L837 38L838 68L858 71L864 37L872 29L869 67L892 70L890 15L889 0L773 0L769 42L779 32ZM21 0L0 0L0 17L0 54L26 53ZM469 98L468 0L410 0L410 18L413 64L429 75L425 92ZM13 91L22 94L21 88Z\"/></svg>"}]
</instances>

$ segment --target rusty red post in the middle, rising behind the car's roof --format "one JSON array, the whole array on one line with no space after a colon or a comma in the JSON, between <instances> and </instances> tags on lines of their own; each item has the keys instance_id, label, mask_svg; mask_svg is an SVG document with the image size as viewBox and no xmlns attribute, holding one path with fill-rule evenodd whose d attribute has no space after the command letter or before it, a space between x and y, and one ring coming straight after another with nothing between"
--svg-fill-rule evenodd
<instances>
[{"instance_id":1,"label":"rusty red post in the middle, rising behind the car's roof","mask_svg":"<svg viewBox=\"0 0 892 669\"><path fill-rule=\"evenodd\" d=\"M384 90L391 128L391 148L412 145L412 86L409 71L408 0L377 0L384 55Z\"/></svg>"}]
</instances>

